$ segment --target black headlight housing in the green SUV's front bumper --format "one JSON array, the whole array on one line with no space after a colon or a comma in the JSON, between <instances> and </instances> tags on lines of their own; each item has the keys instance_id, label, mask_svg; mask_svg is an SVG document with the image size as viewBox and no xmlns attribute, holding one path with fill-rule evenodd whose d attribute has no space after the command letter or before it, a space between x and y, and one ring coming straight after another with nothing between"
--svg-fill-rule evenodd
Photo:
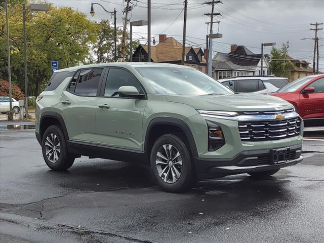
<instances>
[{"instance_id":1,"label":"black headlight housing in the green SUV's front bumper","mask_svg":"<svg viewBox=\"0 0 324 243\"><path fill-rule=\"evenodd\" d=\"M225 137L220 126L206 120L208 127L208 151L215 151L225 144Z\"/></svg>"}]
</instances>

